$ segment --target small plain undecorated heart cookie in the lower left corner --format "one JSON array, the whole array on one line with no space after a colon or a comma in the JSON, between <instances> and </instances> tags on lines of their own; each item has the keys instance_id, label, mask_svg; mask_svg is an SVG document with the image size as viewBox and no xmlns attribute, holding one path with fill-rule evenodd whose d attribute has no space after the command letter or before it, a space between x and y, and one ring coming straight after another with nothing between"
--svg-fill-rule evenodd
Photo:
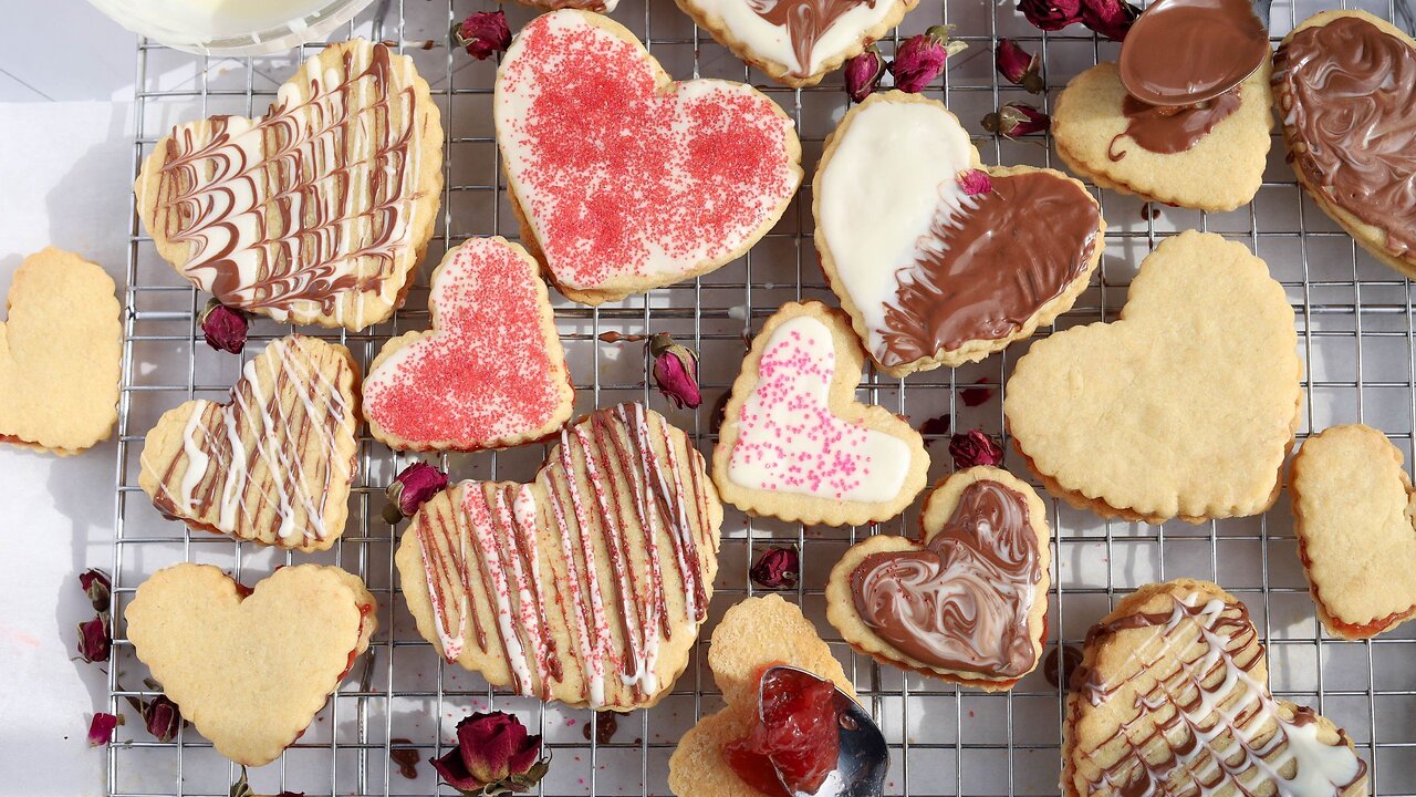
<instances>
[{"instance_id":1,"label":"small plain undecorated heart cookie in the lower left corner","mask_svg":"<svg viewBox=\"0 0 1416 797\"><path fill-rule=\"evenodd\" d=\"M378 604L338 567L280 567L246 589L211 564L139 584L127 638L183 718L242 766L273 762L320 712L378 627Z\"/></svg>"}]
</instances>

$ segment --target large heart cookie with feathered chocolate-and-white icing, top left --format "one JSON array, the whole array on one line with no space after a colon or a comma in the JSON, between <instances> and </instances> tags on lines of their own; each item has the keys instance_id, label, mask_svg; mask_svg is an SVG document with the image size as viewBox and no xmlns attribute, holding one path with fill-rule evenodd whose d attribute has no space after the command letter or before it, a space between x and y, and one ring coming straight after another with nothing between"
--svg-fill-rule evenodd
<instances>
[{"instance_id":1,"label":"large heart cookie with feathered chocolate-and-white icing, top left","mask_svg":"<svg viewBox=\"0 0 1416 797\"><path fill-rule=\"evenodd\" d=\"M212 116L157 142L137 210L157 252L222 303L364 329L404 303L442 193L438 106L413 60L326 47L265 116Z\"/></svg>"}]
</instances>

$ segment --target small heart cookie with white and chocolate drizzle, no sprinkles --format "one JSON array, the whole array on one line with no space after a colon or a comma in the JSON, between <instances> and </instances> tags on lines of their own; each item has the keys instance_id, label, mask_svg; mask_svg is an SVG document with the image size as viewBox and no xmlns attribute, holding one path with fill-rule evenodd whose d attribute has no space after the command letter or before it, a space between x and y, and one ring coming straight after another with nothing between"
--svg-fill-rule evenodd
<instances>
[{"instance_id":1,"label":"small heart cookie with white and chocolate drizzle, no sprinkles","mask_svg":"<svg viewBox=\"0 0 1416 797\"><path fill-rule=\"evenodd\" d=\"M358 467L358 364L319 338L272 340L225 404L163 413L143 440L139 484L193 529L295 550L344 533Z\"/></svg>"}]
</instances>

